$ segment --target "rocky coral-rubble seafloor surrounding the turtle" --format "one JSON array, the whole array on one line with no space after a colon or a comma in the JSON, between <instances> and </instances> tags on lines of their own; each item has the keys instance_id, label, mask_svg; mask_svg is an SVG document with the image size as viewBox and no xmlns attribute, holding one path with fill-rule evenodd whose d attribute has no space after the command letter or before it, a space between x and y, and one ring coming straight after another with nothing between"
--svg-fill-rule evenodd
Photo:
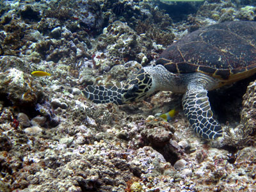
<instances>
[{"instance_id":1,"label":"rocky coral-rubble seafloor surrounding the turtle","mask_svg":"<svg viewBox=\"0 0 256 192\"><path fill-rule=\"evenodd\" d=\"M256 191L255 76L209 92L224 138L198 138L182 95L94 104L204 26L256 20L254 0L0 1L0 191ZM51 76L35 77L42 70ZM175 108L168 123L156 117Z\"/></svg>"}]
</instances>

